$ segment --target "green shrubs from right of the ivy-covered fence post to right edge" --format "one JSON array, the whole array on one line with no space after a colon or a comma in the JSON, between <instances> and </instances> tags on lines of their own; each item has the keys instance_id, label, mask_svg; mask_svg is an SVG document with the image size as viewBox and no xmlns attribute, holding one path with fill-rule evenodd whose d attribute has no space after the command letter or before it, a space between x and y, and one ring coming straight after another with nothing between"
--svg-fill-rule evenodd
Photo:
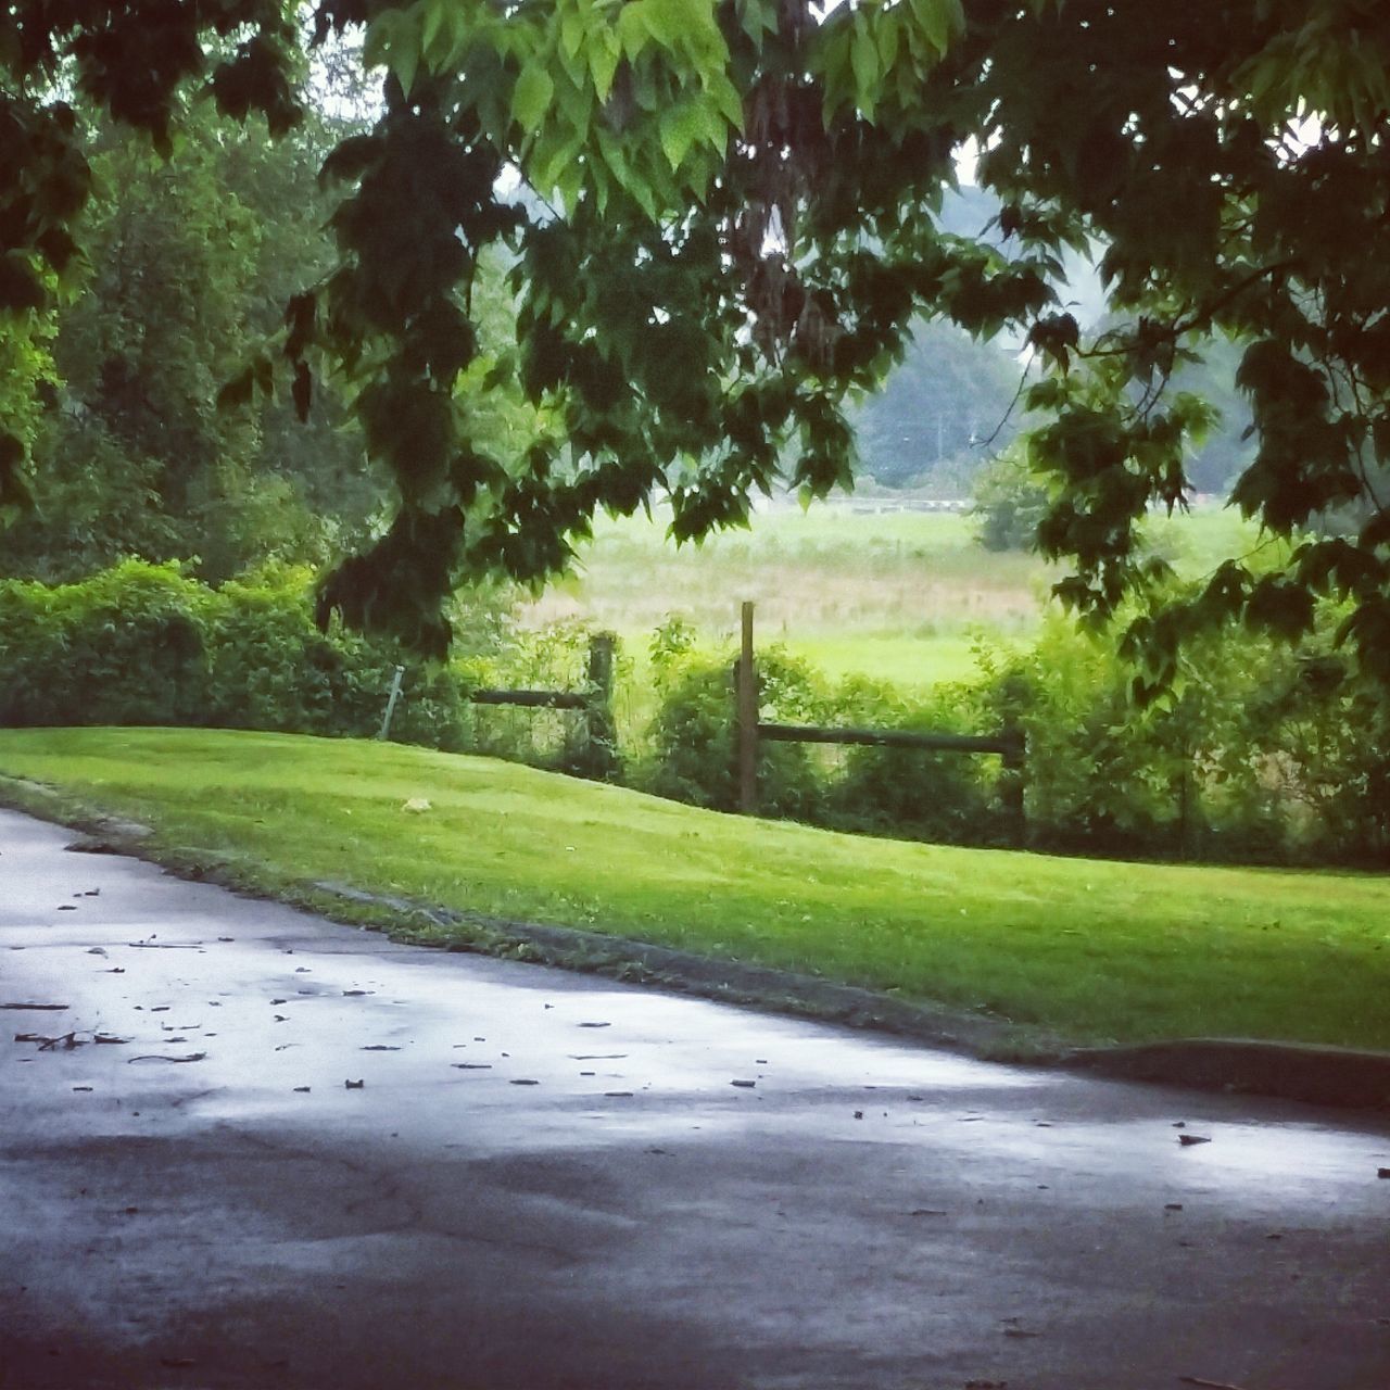
<instances>
[{"instance_id":1,"label":"green shrubs from right of the ivy-covered fence post to right edge","mask_svg":"<svg viewBox=\"0 0 1390 1390\"><path fill-rule=\"evenodd\" d=\"M1327 623L1330 630L1334 624ZM669 639L634 773L666 796L731 810L731 663ZM1238 630L1193 648L1166 702L1138 709L1104 638L1051 619L1026 651L977 649L979 678L908 698L862 680L831 687L760 653L762 717L778 723L1027 739L1027 840L1102 856L1294 863L1390 862L1390 716L1330 639L1300 651ZM956 844L1008 842L997 758L802 744L760 748L760 810L837 828Z\"/></svg>"}]
</instances>

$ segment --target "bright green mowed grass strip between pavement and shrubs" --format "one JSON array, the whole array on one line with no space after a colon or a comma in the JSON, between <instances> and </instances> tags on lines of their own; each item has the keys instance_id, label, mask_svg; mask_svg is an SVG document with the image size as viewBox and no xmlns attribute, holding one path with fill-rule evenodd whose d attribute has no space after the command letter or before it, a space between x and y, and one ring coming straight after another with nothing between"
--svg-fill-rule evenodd
<instances>
[{"instance_id":1,"label":"bright green mowed grass strip between pavement and shrubs","mask_svg":"<svg viewBox=\"0 0 1390 1390\"><path fill-rule=\"evenodd\" d=\"M0 733L0 773L293 895L332 880L983 1009L1080 1042L1390 1048L1390 884L742 820L488 759L190 730ZM425 798L430 809L403 809ZM0 870L3 874L3 870Z\"/></svg>"}]
</instances>

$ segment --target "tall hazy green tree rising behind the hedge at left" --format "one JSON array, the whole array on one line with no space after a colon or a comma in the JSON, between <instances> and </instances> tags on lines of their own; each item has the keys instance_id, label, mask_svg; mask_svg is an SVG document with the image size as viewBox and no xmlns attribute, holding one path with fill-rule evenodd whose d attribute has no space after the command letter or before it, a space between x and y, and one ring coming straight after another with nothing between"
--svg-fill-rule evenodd
<instances>
[{"instance_id":1,"label":"tall hazy green tree rising behind the hedge at left","mask_svg":"<svg viewBox=\"0 0 1390 1390\"><path fill-rule=\"evenodd\" d=\"M139 555L197 557L221 580L250 560L322 562L382 507L332 396L309 428L274 400L214 407L327 268L316 175L336 139L314 117L277 142L242 136L206 107L182 117L170 161L140 135L93 132L85 265L50 316L54 389L32 431L35 516L0 571L71 580Z\"/></svg>"}]
</instances>

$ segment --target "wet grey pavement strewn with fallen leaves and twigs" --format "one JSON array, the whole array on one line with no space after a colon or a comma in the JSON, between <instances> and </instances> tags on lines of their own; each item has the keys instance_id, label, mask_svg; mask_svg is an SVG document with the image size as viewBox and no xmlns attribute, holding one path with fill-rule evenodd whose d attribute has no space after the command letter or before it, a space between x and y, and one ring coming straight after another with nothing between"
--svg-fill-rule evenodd
<instances>
[{"instance_id":1,"label":"wet grey pavement strewn with fallen leaves and twigs","mask_svg":"<svg viewBox=\"0 0 1390 1390\"><path fill-rule=\"evenodd\" d=\"M393 945L72 838L0 812L4 1390L1390 1386L1383 1116Z\"/></svg>"}]
</instances>

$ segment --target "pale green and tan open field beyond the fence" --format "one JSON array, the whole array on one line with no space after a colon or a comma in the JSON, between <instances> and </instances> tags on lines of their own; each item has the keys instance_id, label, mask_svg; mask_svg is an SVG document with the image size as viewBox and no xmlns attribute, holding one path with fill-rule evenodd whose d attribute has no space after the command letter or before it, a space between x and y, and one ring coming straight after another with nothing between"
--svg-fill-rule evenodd
<instances>
[{"instance_id":1,"label":"pale green and tan open field beyond the fence","mask_svg":"<svg viewBox=\"0 0 1390 1390\"><path fill-rule=\"evenodd\" d=\"M670 614L709 646L735 641L744 599L758 605L759 644L777 642L827 676L903 688L973 674L981 634L1026 641L1061 574L1033 555L991 555L974 521L945 512L891 510L881 499L795 503L755 516L751 531L677 549L657 517L605 521L578 571L524 614L530 626L582 620L624 641L638 663ZM1190 575L1254 543L1227 512L1155 520L1155 546Z\"/></svg>"}]
</instances>

